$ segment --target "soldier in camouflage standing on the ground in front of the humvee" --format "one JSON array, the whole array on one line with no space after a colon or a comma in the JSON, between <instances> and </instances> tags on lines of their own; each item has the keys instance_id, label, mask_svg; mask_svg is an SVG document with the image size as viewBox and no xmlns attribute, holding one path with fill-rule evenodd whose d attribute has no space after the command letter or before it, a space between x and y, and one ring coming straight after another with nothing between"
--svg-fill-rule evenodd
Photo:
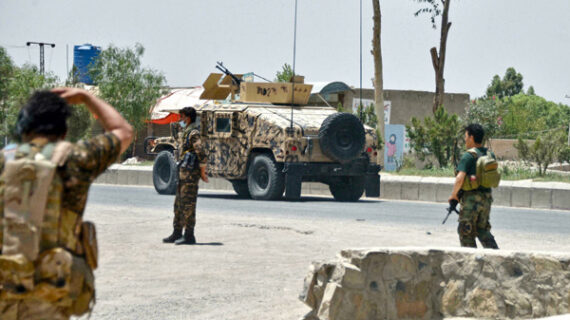
<instances>
[{"instance_id":1,"label":"soldier in camouflage standing on the ground in front of the humvee","mask_svg":"<svg viewBox=\"0 0 570 320\"><path fill-rule=\"evenodd\" d=\"M184 130L179 141L180 162L178 168L178 186L174 199L174 230L164 239L165 243L195 244L194 227L196 226L196 198L200 178L208 182L206 174L206 154L202 148L200 132L196 130L196 110L186 107L180 110L180 126ZM185 228L184 237L182 229Z\"/></svg>"}]
</instances>

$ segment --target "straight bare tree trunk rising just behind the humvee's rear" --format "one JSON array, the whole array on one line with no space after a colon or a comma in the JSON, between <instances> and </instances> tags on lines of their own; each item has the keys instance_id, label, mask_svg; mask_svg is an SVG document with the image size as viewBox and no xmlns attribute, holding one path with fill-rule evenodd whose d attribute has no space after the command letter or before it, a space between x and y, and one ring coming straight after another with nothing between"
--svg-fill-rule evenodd
<instances>
[{"instance_id":1,"label":"straight bare tree trunk rising just behind the humvee's rear","mask_svg":"<svg viewBox=\"0 0 570 320\"><path fill-rule=\"evenodd\" d=\"M374 30L372 36L372 55L374 56L374 105L376 111L376 122L378 141L382 141L384 136L384 78L382 75L382 13L380 11L380 0L372 0L374 9ZM381 146L379 146L381 147ZM382 148L384 149L384 148ZM384 155L379 152L378 160L380 163L384 161Z\"/></svg>"}]
</instances>

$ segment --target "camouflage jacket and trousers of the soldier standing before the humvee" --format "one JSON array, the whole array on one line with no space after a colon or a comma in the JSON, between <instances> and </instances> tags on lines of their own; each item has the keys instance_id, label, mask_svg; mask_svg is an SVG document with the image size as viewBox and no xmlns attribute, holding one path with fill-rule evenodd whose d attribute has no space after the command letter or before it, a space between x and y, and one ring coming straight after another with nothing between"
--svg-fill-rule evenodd
<instances>
[{"instance_id":1,"label":"camouflage jacket and trousers of the soldier standing before the humvee","mask_svg":"<svg viewBox=\"0 0 570 320\"><path fill-rule=\"evenodd\" d=\"M206 166L206 154L202 148L200 132L192 127L187 128L181 135L179 143L180 160L184 154L190 152L196 154L200 167ZM176 188L176 198L174 199L174 230L194 230L196 226L196 197L198 196L198 182L200 181L200 169L183 168L178 169L178 186Z\"/></svg>"}]
</instances>

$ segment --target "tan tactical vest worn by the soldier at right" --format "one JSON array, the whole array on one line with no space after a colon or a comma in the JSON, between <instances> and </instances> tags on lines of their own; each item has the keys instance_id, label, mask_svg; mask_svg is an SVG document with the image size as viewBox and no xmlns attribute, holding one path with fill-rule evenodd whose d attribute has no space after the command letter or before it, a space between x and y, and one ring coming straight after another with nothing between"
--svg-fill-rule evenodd
<instances>
[{"instance_id":1,"label":"tan tactical vest worn by the soldier at right","mask_svg":"<svg viewBox=\"0 0 570 320\"><path fill-rule=\"evenodd\" d=\"M495 154L490 150L482 154L477 148L471 148L467 152L476 160L476 174L475 176L466 176L461 189L471 191L480 187L487 189L498 187L501 181L501 173Z\"/></svg>"}]
</instances>

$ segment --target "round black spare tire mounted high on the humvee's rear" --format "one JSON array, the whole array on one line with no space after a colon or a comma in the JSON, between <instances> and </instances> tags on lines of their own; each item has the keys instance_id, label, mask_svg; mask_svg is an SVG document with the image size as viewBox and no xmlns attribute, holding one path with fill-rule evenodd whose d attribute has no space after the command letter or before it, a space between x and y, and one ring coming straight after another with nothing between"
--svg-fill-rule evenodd
<instances>
[{"instance_id":1,"label":"round black spare tire mounted high on the humvee's rear","mask_svg":"<svg viewBox=\"0 0 570 320\"><path fill-rule=\"evenodd\" d=\"M338 162L356 159L364 150L364 126L350 113L331 114L319 129L319 143L321 151Z\"/></svg>"}]
</instances>

